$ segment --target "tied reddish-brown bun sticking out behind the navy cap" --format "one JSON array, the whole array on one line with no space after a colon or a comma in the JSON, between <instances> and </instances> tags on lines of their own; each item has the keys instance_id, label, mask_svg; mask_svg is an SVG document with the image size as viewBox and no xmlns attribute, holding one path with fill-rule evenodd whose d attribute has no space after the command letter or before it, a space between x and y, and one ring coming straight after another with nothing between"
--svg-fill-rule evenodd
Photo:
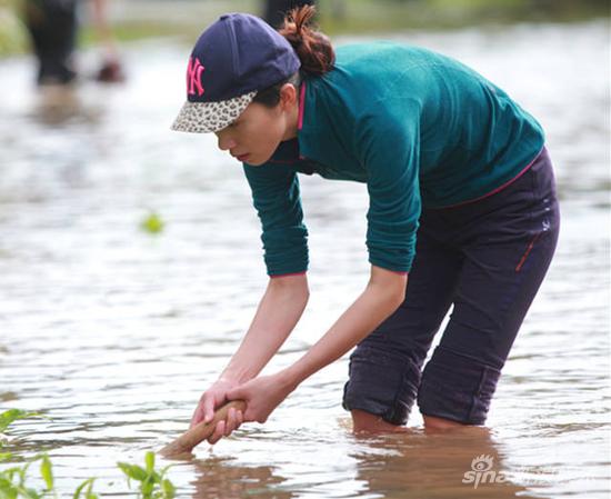
<instances>
[{"instance_id":1,"label":"tied reddish-brown bun sticking out behind the navy cap","mask_svg":"<svg viewBox=\"0 0 611 499\"><path fill-rule=\"evenodd\" d=\"M278 31L299 56L301 71L309 74L324 74L331 71L335 62L335 52L331 40L310 27L314 17L314 6L296 7L284 17L284 24Z\"/></svg>"}]
</instances>

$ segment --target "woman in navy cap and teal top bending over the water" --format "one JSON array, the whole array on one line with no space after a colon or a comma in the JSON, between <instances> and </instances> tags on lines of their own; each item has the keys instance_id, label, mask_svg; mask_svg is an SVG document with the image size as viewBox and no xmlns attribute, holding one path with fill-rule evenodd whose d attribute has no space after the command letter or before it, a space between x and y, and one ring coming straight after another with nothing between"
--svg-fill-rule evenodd
<instances>
[{"instance_id":1,"label":"woman in navy cap and teal top bending over the water","mask_svg":"<svg viewBox=\"0 0 611 499\"><path fill-rule=\"evenodd\" d=\"M355 431L393 431L417 400L425 429L483 425L501 369L552 258L553 173L539 123L441 54L395 43L335 53L308 28L227 14L198 40L173 129L214 132L243 162L270 276L240 348L191 425L247 401L209 441L264 422L301 381L352 347L343 407ZM297 172L365 182L371 277L294 365L257 377L308 301ZM408 283L409 282L409 283ZM424 369L434 333L453 306Z\"/></svg>"}]
</instances>

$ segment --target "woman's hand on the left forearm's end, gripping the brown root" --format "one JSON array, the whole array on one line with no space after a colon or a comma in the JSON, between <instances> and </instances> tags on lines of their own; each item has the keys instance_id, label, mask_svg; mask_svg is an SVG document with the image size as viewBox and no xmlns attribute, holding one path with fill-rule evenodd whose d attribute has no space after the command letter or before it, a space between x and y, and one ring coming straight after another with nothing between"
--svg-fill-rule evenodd
<instances>
[{"instance_id":1,"label":"woman's hand on the left forearm's end, gripping the brown root","mask_svg":"<svg viewBox=\"0 0 611 499\"><path fill-rule=\"evenodd\" d=\"M227 378L219 378L208 390L206 390L193 412L191 426L193 428L199 422L210 422L214 418L214 409L227 402L227 392L240 383ZM227 421L221 420L217 423L214 432L207 439L209 443L217 443L222 437L229 437L232 431L240 428L243 422L242 411L229 409Z\"/></svg>"}]
</instances>

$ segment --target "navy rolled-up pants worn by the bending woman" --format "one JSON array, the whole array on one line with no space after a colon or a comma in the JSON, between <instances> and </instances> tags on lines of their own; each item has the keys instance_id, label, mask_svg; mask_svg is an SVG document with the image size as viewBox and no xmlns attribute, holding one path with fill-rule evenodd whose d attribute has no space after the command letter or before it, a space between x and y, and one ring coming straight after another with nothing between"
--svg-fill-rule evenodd
<instances>
[{"instance_id":1,"label":"navy rolled-up pants worn by the bending woman","mask_svg":"<svg viewBox=\"0 0 611 499\"><path fill-rule=\"evenodd\" d=\"M501 191L423 210L405 300L350 356L343 408L403 425L418 400L425 416L482 425L552 259L559 224L545 149Z\"/></svg>"}]
</instances>

